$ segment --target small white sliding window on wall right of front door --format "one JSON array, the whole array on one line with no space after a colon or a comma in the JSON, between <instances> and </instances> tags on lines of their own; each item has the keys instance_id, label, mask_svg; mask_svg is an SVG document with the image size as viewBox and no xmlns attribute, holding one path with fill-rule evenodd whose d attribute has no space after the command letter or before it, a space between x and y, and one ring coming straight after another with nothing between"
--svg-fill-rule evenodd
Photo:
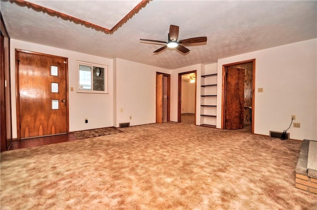
<instances>
[{"instance_id":1,"label":"small white sliding window on wall right of front door","mask_svg":"<svg viewBox=\"0 0 317 210\"><path fill-rule=\"evenodd\" d=\"M107 66L78 61L78 92L108 93Z\"/></svg>"}]
</instances>

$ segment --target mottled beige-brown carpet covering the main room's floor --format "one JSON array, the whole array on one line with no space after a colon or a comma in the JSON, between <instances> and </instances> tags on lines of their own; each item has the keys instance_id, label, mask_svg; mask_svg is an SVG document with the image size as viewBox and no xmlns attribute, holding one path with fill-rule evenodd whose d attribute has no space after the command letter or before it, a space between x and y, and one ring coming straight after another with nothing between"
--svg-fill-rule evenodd
<instances>
[{"instance_id":1,"label":"mottled beige-brown carpet covering the main room's floor","mask_svg":"<svg viewBox=\"0 0 317 210\"><path fill-rule=\"evenodd\" d=\"M1 210L316 210L299 141L166 123L1 153Z\"/></svg>"}]
</instances>

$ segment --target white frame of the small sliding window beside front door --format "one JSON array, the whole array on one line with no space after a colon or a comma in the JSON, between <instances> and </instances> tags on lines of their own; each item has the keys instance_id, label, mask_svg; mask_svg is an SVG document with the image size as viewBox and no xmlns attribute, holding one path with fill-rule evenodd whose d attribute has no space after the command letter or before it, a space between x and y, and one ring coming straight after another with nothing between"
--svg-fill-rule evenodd
<instances>
[{"instance_id":1,"label":"white frame of the small sliding window beside front door","mask_svg":"<svg viewBox=\"0 0 317 210\"><path fill-rule=\"evenodd\" d=\"M91 67L91 89L80 89L80 81L79 81L79 65L83 66L90 66ZM93 77L93 68L103 68L104 69L104 87L105 90L94 90L94 77ZM79 61L77 60L77 92L82 92L82 93L102 93L102 94L108 94L108 66L107 65L102 65L102 64L97 64L97 63L91 63L87 61Z\"/></svg>"}]
</instances>

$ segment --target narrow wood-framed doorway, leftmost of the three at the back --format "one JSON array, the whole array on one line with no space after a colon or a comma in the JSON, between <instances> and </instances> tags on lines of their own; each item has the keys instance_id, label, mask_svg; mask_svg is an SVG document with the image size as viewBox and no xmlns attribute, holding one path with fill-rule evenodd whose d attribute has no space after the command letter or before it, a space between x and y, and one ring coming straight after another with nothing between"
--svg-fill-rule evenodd
<instances>
[{"instance_id":1,"label":"narrow wood-framed doorway, leftmost of the three at the back","mask_svg":"<svg viewBox=\"0 0 317 210\"><path fill-rule=\"evenodd\" d=\"M170 75L157 72L156 123L170 121Z\"/></svg>"}]
</instances>

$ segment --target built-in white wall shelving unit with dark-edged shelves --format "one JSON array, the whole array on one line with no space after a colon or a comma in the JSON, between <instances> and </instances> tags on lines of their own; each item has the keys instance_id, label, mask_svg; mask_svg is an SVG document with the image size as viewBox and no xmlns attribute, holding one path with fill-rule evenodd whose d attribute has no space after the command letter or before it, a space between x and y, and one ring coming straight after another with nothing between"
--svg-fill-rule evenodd
<instances>
[{"instance_id":1,"label":"built-in white wall shelving unit with dark-edged shelves","mask_svg":"<svg viewBox=\"0 0 317 210\"><path fill-rule=\"evenodd\" d=\"M217 74L202 75L201 91L201 126L216 126ZM210 79L209 79L210 78ZM214 79L215 78L215 79Z\"/></svg>"}]
</instances>

